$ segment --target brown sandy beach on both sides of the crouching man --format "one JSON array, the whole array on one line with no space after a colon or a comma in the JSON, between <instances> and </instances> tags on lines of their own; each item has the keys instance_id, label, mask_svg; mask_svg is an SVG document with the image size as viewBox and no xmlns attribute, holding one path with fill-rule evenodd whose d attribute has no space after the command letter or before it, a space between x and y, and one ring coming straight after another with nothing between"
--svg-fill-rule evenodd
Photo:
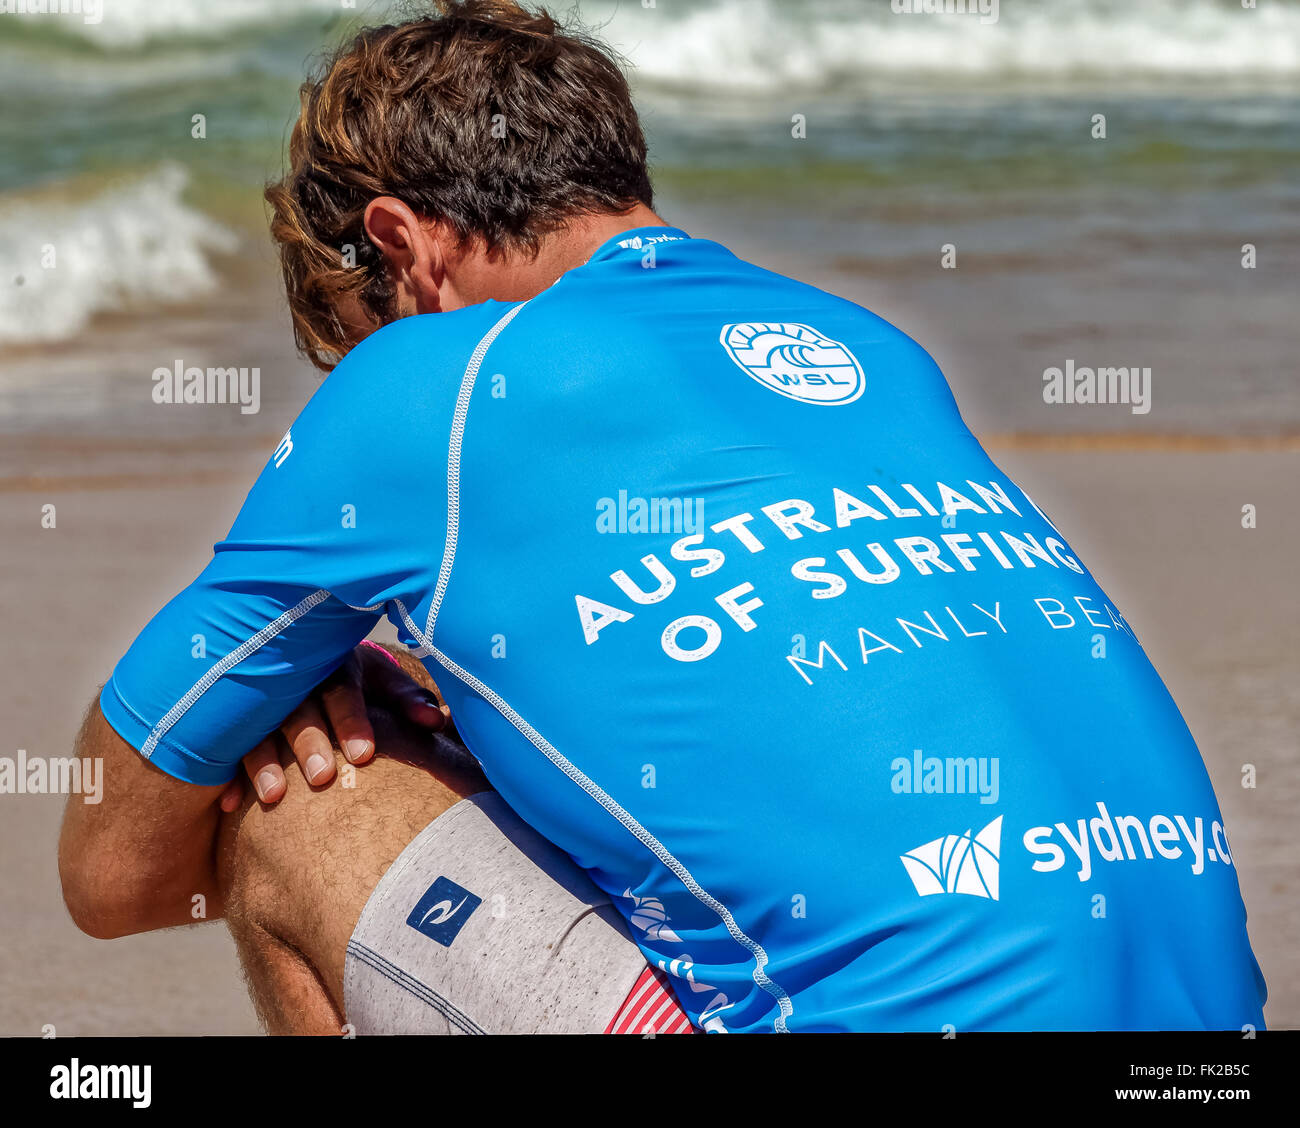
<instances>
[{"instance_id":1,"label":"brown sandy beach on both sides of the crouching man","mask_svg":"<svg viewBox=\"0 0 1300 1128\"><path fill-rule=\"evenodd\" d=\"M5 755L60 756L134 630L205 563L274 434L191 451L13 441L0 478ZM1300 604L1288 452L1069 451L991 441L1118 602L1200 743L1232 836L1266 1016L1300 1025ZM1258 528L1240 526L1253 504ZM42 528L42 507L56 528ZM74 704L75 703L75 704ZM1257 786L1243 789L1244 764ZM69 920L55 872L62 799L0 797L0 1034L235 1034L257 1024L221 924L103 942ZM1188 942L1195 943L1195 921Z\"/></svg>"}]
</instances>

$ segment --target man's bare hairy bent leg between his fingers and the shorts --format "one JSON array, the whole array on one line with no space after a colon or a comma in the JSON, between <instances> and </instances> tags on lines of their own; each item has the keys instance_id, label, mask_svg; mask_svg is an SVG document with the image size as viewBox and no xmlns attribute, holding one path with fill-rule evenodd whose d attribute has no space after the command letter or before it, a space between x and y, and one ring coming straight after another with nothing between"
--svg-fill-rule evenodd
<instances>
[{"instance_id":1,"label":"man's bare hairy bent leg between his fingers and the shorts","mask_svg":"<svg viewBox=\"0 0 1300 1128\"><path fill-rule=\"evenodd\" d=\"M380 710L370 721L373 762L352 768L338 756L325 788L286 772L280 803L250 795L221 829L226 923L273 1034L339 1033L347 941L370 891L425 825L490 790L462 746L416 741Z\"/></svg>"}]
</instances>

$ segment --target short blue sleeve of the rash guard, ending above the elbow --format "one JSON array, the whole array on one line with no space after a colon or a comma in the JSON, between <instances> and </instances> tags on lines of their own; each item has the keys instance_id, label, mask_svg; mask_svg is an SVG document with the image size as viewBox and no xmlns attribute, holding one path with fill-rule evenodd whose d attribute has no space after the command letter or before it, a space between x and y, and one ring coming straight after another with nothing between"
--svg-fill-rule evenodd
<instances>
[{"instance_id":1,"label":"short blue sleeve of the rash guard, ending above the elbow","mask_svg":"<svg viewBox=\"0 0 1300 1128\"><path fill-rule=\"evenodd\" d=\"M194 784L230 780L373 629L419 600L446 528L446 430L464 365L456 314L359 344L281 439L212 561L144 628L100 695L108 723ZM477 339L477 338L476 338ZM432 452L432 454L430 454Z\"/></svg>"}]
</instances>

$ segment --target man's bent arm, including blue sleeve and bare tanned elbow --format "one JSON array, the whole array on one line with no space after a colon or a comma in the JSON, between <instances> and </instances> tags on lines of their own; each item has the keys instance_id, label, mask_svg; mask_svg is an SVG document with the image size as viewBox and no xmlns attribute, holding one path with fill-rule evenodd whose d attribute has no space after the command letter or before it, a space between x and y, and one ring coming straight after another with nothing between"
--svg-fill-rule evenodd
<instances>
[{"instance_id":1,"label":"man's bent arm, including blue sleeve and bare tanned elbow","mask_svg":"<svg viewBox=\"0 0 1300 1128\"><path fill-rule=\"evenodd\" d=\"M220 916L213 838L240 760L394 600L420 620L433 586L424 538L446 524L446 494L424 485L446 476L428 424L451 418L481 320L445 330L441 318L407 318L352 350L208 567L118 661L78 738L78 755L103 759L104 801L73 803L60 843L65 899L91 934L190 923L199 894L205 919ZM402 409L408 400L420 411ZM326 759L317 778L332 775Z\"/></svg>"}]
</instances>

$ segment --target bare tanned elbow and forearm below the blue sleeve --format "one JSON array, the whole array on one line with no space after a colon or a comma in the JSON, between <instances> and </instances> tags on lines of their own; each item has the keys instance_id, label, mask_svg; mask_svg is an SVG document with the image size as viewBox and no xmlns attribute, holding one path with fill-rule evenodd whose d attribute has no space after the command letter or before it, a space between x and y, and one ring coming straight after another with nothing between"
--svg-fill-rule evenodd
<instances>
[{"instance_id":1,"label":"bare tanned elbow and forearm below the blue sleeve","mask_svg":"<svg viewBox=\"0 0 1300 1128\"><path fill-rule=\"evenodd\" d=\"M176 780L155 768L104 720L96 700L77 737L78 756L103 763L104 795L72 795L58 838L64 902L82 932L112 940L192 924L225 907L216 881L216 834L224 785Z\"/></svg>"}]
</instances>

